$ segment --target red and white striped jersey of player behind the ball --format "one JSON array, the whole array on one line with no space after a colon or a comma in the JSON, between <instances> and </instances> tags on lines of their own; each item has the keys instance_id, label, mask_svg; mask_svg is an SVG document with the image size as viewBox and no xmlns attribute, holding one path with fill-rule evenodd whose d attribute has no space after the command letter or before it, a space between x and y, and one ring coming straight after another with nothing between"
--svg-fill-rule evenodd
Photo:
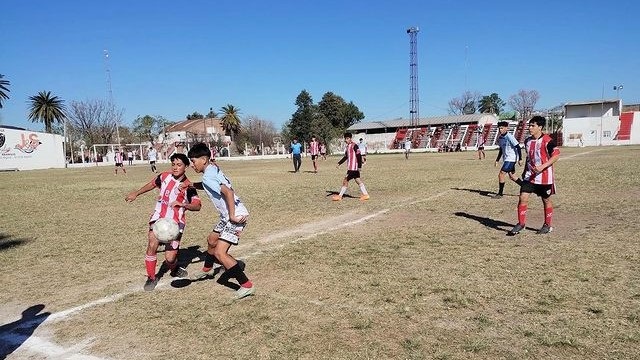
<instances>
[{"instance_id":1,"label":"red and white striped jersey of player behind the ball","mask_svg":"<svg viewBox=\"0 0 640 360\"><path fill-rule=\"evenodd\" d=\"M187 187L180 191L180 184L189 184L190 181L186 176L180 179L176 179L170 172L163 172L156 177L156 187L160 188L160 194L156 207L149 218L149 223L152 223L160 218L173 219L178 224L185 224L186 209L183 207L171 207L174 201L178 201L184 204L200 202L198 192L193 187Z\"/></svg>"}]
</instances>

